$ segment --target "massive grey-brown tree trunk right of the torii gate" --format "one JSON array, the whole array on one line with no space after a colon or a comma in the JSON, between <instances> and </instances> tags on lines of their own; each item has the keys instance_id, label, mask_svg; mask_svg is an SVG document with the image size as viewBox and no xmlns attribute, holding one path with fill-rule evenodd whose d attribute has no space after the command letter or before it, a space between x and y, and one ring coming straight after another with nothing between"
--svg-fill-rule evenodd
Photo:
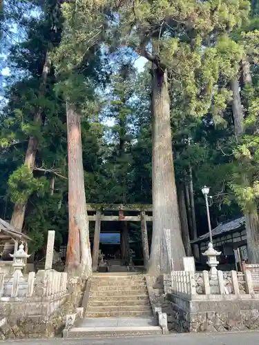
<instances>
[{"instance_id":1,"label":"massive grey-brown tree trunk right of the torii gate","mask_svg":"<svg viewBox=\"0 0 259 345\"><path fill-rule=\"evenodd\" d=\"M171 230L171 255L175 270L182 270L185 256L182 244L178 198L173 168L170 99L166 70L153 63L152 81L152 193L153 236L148 273L158 276L169 271L164 259L164 229Z\"/></svg>"}]
</instances>

